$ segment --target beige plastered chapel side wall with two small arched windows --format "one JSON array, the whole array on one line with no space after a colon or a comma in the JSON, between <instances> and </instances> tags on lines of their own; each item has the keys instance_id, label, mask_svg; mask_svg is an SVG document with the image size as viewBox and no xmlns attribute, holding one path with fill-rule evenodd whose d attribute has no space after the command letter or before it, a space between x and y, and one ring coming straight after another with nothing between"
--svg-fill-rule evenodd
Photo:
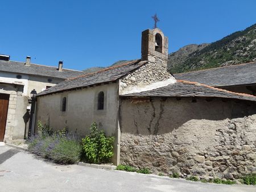
<instances>
[{"instance_id":1,"label":"beige plastered chapel side wall with two small arched windows","mask_svg":"<svg viewBox=\"0 0 256 192\"><path fill-rule=\"evenodd\" d=\"M104 110L97 110L97 97L104 91ZM67 110L61 111L61 99L67 97ZM90 124L96 122L107 135L114 135L117 128L118 84L88 87L38 97L37 119L58 130L68 127L81 135L89 132Z\"/></svg>"}]
</instances>

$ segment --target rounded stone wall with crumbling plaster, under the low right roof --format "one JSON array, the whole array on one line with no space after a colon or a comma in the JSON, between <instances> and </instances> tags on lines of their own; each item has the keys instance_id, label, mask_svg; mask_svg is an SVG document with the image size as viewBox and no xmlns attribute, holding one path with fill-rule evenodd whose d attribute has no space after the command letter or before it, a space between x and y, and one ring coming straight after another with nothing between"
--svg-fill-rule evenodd
<instances>
[{"instance_id":1,"label":"rounded stone wall with crumbling plaster, under the low right roof","mask_svg":"<svg viewBox=\"0 0 256 192\"><path fill-rule=\"evenodd\" d=\"M123 100L121 163L181 177L256 172L256 106L191 99Z\"/></svg>"}]
</instances>

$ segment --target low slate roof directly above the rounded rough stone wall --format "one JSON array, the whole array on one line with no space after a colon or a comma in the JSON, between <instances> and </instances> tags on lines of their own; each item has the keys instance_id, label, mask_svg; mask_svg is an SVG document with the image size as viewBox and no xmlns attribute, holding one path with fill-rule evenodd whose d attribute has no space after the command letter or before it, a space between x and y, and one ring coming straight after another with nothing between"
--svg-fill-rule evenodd
<instances>
[{"instance_id":1,"label":"low slate roof directly above the rounded rough stone wall","mask_svg":"<svg viewBox=\"0 0 256 192\"><path fill-rule=\"evenodd\" d=\"M121 97L217 97L242 99L247 101L256 101L256 97L250 94L234 93L224 89L199 84L190 81L177 81L175 84L170 84L153 90L143 91L140 93L131 93L121 95Z\"/></svg>"}]
</instances>

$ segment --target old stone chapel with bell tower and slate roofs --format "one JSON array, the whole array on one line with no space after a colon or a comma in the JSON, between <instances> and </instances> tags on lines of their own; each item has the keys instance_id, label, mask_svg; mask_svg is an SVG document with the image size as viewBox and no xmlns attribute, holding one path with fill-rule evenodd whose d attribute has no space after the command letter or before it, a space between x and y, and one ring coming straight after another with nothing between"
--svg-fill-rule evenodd
<instances>
[{"instance_id":1,"label":"old stone chapel with bell tower and slate roofs","mask_svg":"<svg viewBox=\"0 0 256 192\"><path fill-rule=\"evenodd\" d=\"M96 122L115 137L115 165L230 179L256 170L256 97L176 80L159 28L142 32L141 50L139 60L42 91L36 119L80 135Z\"/></svg>"}]
</instances>

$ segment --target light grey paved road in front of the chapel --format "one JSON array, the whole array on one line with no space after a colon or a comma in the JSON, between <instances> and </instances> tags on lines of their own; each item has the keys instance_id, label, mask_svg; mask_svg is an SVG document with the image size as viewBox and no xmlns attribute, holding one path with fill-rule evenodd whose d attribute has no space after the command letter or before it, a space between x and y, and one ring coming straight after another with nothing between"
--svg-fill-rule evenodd
<instances>
[{"instance_id":1,"label":"light grey paved road in front of the chapel","mask_svg":"<svg viewBox=\"0 0 256 192\"><path fill-rule=\"evenodd\" d=\"M28 152L0 147L0 191L256 191L154 175L56 165Z\"/></svg>"}]
</instances>

